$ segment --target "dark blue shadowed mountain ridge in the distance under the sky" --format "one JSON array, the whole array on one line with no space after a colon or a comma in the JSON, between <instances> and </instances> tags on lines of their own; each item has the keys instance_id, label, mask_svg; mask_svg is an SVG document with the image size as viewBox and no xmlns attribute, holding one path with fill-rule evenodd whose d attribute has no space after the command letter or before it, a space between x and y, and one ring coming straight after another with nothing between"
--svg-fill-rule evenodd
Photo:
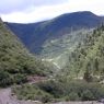
<instances>
[{"instance_id":1,"label":"dark blue shadowed mountain ridge in the distance under the sky","mask_svg":"<svg viewBox=\"0 0 104 104\"><path fill-rule=\"evenodd\" d=\"M41 54L43 44L51 38L60 38L71 31L93 28L104 21L103 16L92 12L73 12L62 14L49 21L31 24L7 23L7 25L21 38L25 46L35 54Z\"/></svg>"}]
</instances>

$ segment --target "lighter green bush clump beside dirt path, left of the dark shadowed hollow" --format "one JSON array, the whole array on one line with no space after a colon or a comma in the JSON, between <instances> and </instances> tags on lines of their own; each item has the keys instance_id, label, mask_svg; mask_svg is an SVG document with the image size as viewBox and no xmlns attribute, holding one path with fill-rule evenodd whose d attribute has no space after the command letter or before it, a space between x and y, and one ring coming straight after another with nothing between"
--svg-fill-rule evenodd
<instances>
[{"instance_id":1,"label":"lighter green bush clump beside dirt path, left of the dark shadowed hollow","mask_svg":"<svg viewBox=\"0 0 104 104\"><path fill-rule=\"evenodd\" d=\"M37 85L24 84L21 86L13 88L13 92L16 93L19 100L33 100L42 102L50 102L53 95L41 90Z\"/></svg>"}]
</instances>

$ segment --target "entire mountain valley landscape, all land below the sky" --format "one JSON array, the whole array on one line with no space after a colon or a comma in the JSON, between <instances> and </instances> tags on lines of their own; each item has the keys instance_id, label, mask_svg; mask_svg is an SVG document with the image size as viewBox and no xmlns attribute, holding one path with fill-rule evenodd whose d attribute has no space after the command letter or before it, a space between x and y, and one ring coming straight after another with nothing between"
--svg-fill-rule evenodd
<instances>
[{"instance_id":1,"label":"entire mountain valley landscape, all land below the sky","mask_svg":"<svg viewBox=\"0 0 104 104\"><path fill-rule=\"evenodd\" d=\"M30 24L0 20L0 103L100 104L103 23L89 11Z\"/></svg>"}]
</instances>

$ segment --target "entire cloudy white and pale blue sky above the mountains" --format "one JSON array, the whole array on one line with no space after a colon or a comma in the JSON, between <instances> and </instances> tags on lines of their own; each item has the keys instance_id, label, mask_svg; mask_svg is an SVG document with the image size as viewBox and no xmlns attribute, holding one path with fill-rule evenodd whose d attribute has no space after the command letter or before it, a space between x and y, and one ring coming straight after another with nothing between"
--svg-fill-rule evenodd
<instances>
[{"instance_id":1,"label":"entire cloudy white and pale blue sky above the mountains","mask_svg":"<svg viewBox=\"0 0 104 104\"><path fill-rule=\"evenodd\" d=\"M104 0L0 1L0 16L7 22L34 23L77 11L91 11L97 15L104 15Z\"/></svg>"}]
</instances>

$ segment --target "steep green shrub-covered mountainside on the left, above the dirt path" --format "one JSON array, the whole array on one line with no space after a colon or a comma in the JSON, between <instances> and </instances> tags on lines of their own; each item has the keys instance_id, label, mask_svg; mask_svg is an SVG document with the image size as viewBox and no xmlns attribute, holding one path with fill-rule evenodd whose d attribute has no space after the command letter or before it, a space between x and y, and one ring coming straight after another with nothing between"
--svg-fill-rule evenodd
<instances>
[{"instance_id":1,"label":"steep green shrub-covered mountainside on the left, above the dirt path","mask_svg":"<svg viewBox=\"0 0 104 104\"><path fill-rule=\"evenodd\" d=\"M31 74L45 76L45 70L0 19L0 86L25 82Z\"/></svg>"}]
</instances>

